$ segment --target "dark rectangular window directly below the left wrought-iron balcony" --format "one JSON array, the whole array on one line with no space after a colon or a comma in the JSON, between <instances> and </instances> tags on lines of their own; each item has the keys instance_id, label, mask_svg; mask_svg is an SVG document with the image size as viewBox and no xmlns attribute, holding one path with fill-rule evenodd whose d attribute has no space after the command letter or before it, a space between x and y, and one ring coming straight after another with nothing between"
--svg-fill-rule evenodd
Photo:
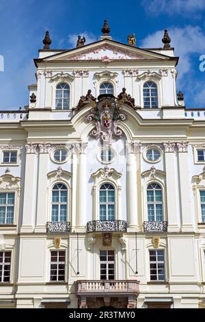
<instances>
[{"instance_id":1,"label":"dark rectangular window directly below the left wrought-iron balcony","mask_svg":"<svg viewBox=\"0 0 205 322\"><path fill-rule=\"evenodd\" d=\"M51 282L65 281L66 251L51 251Z\"/></svg>"}]
</instances>

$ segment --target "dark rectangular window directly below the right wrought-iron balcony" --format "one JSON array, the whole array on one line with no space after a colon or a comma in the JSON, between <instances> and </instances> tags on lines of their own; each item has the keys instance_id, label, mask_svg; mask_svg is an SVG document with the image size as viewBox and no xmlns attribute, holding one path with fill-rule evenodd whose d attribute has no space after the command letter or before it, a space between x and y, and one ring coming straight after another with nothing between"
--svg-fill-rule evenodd
<instances>
[{"instance_id":1,"label":"dark rectangular window directly below the right wrought-iron balcony","mask_svg":"<svg viewBox=\"0 0 205 322\"><path fill-rule=\"evenodd\" d=\"M150 250L150 280L165 280L165 259L163 249Z\"/></svg>"}]
</instances>

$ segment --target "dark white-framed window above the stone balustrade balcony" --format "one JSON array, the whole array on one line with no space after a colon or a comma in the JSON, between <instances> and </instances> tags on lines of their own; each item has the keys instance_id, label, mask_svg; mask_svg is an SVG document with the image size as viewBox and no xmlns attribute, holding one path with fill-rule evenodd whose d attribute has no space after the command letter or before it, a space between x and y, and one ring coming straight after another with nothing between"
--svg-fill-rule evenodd
<instances>
[{"instance_id":1,"label":"dark white-framed window above the stone balustrade balcony","mask_svg":"<svg viewBox=\"0 0 205 322\"><path fill-rule=\"evenodd\" d=\"M115 251L100 250L100 280L115 280Z\"/></svg>"}]
</instances>

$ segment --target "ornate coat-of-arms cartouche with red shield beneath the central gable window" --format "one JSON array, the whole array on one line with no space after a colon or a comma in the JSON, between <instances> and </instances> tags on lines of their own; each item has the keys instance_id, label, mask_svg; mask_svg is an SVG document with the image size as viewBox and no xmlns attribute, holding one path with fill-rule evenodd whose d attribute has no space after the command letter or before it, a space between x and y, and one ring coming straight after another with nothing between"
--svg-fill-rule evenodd
<instances>
[{"instance_id":1,"label":"ornate coat-of-arms cartouche with red shield beneath the central gable window","mask_svg":"<svg viewBox=\"0 0 205 322\"><path fill-rule=\"evenodd\" d=\"M118 125L126 119L122 113L122 103L113 95L100 95L98 102L94 104L90 114L85 118L88 123L94 123L96 127L90 132L90 136L103 143L110 143L113 137L120 138L123 133Z\"/></svg>"}]
</instances>

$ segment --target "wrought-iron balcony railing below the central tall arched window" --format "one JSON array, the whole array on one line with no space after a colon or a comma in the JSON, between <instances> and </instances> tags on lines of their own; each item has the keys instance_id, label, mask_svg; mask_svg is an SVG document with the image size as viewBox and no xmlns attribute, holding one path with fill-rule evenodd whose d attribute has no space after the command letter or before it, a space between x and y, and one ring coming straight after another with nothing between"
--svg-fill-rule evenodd
<instances>
[{"instance_id":1,"label":"wrought-iron balcony railing below the central tall arched window","mask_svg":"<svg viewBox=\"0 0 205 322\"><path fill-rule=\"evenodd\" d=\"M122 221L122 220L88 221L87 232L126 232L126 221Z\"/></svg>"}]
</instances>

